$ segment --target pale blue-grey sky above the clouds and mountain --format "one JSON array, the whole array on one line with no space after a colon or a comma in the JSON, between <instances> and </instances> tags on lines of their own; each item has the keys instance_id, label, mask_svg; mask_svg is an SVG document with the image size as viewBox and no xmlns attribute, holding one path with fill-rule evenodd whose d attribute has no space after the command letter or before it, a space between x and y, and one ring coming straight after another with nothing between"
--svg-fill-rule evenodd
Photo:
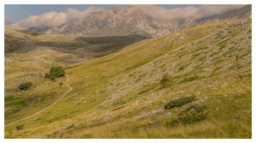
<instances>
[{"instance_id":1,"label":"pale blue-grey sky above the clouds and mountain","mask_svg":"<svg viewBox=\"0 0 256 143\"><path fill-rule=\"evenodd\" d=\"M56 12L65 12L68 8L74 8L78 10L85 10L88 6L96 6L96 7L102 7L102 8L110 8L111 6L117 7L117 8L125 8L127 5L35 5L35 4L18 4L18 5L4 5L4 17L8 18L10 22L18 22L19 20L22 20L25 17L28 17L30 15L42 15L45 12L49 11L56 11ZM159 5L163 6L166 9L171 8L180 8L180 7L186 7L189 5ZM191 6L200 6L200 5L191 5Z\"/></svg>"}]
</instances>

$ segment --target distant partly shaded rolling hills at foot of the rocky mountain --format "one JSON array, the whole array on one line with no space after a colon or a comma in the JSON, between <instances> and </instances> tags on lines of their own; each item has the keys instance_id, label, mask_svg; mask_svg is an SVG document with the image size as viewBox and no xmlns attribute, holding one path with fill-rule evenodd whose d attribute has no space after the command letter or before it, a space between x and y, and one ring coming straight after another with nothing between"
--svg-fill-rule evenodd
<instances>
[{"instance_id":1,"label":"distant partly shaded rolling hills at foot of the rocky mountain","mask_svg":"<svg viewBox=\"0 0 256 143\"><path fill-rule=\"evenodd\" d=\"M36 46L72 54L77 59L92 59L111 54L133 44L152 38L151 35L137 27L119 26L99 32L83 34L42 34L28 30L5 28L5 53L26 51ZM79 60L79 61L83 61Z\"/></svg>"}]
</instances>

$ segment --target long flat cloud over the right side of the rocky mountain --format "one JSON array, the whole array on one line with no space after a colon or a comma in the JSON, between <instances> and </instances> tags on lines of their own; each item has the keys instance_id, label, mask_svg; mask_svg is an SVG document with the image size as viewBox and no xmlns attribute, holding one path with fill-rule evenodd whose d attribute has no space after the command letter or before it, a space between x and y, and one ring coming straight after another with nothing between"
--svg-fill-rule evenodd
<instances>
[{"instance_id":1,"label":"long flat cloud over the right side of the rocky mountain","mask_svg":"<svg viewBox=\"0 0 256 143\"><path fill-rule=\"evenodd\" d=\"M245 5L202 5L199 8L187 6L185 8L165 9L157 6L155 9L144 10L148 16L153 18L206 18L217 16L232 10L242 8Z\"/></svg>"}]
</instances>

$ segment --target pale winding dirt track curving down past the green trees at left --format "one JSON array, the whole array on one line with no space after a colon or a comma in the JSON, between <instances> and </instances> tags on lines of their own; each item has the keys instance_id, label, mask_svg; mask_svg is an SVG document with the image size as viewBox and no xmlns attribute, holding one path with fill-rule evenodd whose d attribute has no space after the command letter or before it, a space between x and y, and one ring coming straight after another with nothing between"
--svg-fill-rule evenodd
<instances>
[{"instance_id":1,"label":"pale winding dirt track curving down past the green trees at left","mask_svg":"<svg viewBox=\"0 0 256 143\"><path fill-rule=\"evenodd\" d=\"M9 126L9 125L12 125L12 124L17 123L18 121L21 121L21 120L28 119L28 118L31 118L31 117L33 117L33 116L39 115L39 114L42 113L43 111L45 111L45 110L51 108L53 105L55 105L56 103L58 103L58 102L60 101L60 99L62 99L66 94L68 94L68 92L70 92L70 91L72 90L72 87L70 87L70 85L68 84L68 82L69 82L69 75L68 75L68 74L65 74L65 76L66 76L66 80L65 80L65 83L64 83L64 84L65 84L65 86L68 87L69 89L66 90L62 95L60 95L59 98L56 99L56 101L54 101L53 103L51 103L49 106L46 106L45 108L43 108L43 109L41 109L41 110L39 110L39 111L37 111L37 112L35 112L35 113L32 113L32 114L29 115L29 116L26 116L26 117L24 117L24 118L18 119L18 120L16 120L16 121L12 121L11 123L5 124L4 126Z\"/></svg>"}]
</instances>

